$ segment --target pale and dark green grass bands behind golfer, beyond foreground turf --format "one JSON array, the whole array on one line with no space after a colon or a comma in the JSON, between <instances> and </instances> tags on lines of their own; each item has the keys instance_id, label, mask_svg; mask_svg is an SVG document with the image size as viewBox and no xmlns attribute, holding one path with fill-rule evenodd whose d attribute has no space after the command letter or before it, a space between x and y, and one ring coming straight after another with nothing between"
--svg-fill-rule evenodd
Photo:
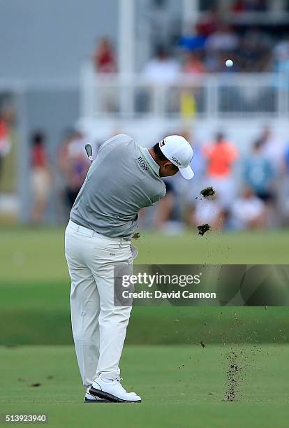
<instances>
[{"instance_id":1,"label":"pale and dark green grass bands behind golfer, beyond foreground turf","mask_svg":"<svg viewBox=\"0 0 289 428\"><path fill-rule=\"evenodd\" d=\"M72 342L64 228L1 229L1 344ZM142 263L288 263L288 231L181 236L142 232ZM237 313L237 315L235 315ZM155 307L133 310L128 343L286 342L289 308ZM236 323L236 318L238 323ZM206 326L204 325L206 322Z\"/></svg>"}]
</instances>

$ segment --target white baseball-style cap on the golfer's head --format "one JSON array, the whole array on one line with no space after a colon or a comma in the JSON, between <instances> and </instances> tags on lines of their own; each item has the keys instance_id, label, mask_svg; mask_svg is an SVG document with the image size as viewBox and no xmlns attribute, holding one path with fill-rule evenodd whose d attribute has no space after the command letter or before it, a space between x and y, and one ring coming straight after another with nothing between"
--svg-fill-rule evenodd
<instances>
[{"instance_id":1,"label":"white baseball-style cap on the golfer's head","mask_svg":"<svg viewBox=\"0 0 289 428\"><path fill-rule=\"evenodd\" d=\"M186 180L191 180L194 173L190 163L193 158L193 149L186 138L180 135L169 135L159 142L159 147L165 157L179 168Z\"/></svg>"}]
</instances>

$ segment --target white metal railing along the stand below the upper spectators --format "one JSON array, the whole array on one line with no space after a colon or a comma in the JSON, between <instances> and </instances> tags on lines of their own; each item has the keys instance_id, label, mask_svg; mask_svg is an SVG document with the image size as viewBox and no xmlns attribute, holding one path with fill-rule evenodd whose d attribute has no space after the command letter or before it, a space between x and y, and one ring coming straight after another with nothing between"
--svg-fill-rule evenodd
<instances>
[{"instance_id":1,"label":"white metal railing along the stand below the upper spectators","mask_svg":"<svg viewBox=\"0 0 289 428\"><path fill-rule=\"evenodd\" d=\"M289 118L289 74L180 74L168 84L143 75L82 72L82 117Z\"/></svg>"}]
</instances>

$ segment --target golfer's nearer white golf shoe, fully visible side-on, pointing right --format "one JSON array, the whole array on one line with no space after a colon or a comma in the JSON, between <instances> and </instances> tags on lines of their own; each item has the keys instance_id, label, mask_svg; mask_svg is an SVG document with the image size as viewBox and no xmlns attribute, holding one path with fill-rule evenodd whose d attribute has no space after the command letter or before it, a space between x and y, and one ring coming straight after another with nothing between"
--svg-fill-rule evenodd
<instances>
[{"instance_id":1,"label":"golfer's nearer white golf shoe, fully visible side-on, pointing right","mask_svg":"<svg viewBox=\"0 0 289 428\"><path fill-rule=\"evenodd\" d=\"M107 399L113 403L140 403L142 399L135 392L126 392L120 383L120 379L105 382L101 377L96 378L89 394L94 397Z\"/></svg>"}]
</instances>

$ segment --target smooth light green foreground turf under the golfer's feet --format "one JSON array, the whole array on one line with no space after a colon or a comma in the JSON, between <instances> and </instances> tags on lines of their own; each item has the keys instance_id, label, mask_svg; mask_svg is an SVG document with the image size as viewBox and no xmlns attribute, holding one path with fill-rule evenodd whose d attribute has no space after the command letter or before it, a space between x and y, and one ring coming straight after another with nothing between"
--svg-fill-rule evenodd
<instances>
[{"instance_id":1,"label":"smooth light green foreground turf under the golfer's feet","mask_svg":"<svg viewBox=\"0 0 289 428\"><path fill-rule=\"evenodd\" d=\"M242 348L240 402L223 401L231 349L126 347L124 385L142 404L88 405L72 346L1 347L0 413L47 413L52 427L287 427L289 346Z\"/></svg>"}]
</instances>

